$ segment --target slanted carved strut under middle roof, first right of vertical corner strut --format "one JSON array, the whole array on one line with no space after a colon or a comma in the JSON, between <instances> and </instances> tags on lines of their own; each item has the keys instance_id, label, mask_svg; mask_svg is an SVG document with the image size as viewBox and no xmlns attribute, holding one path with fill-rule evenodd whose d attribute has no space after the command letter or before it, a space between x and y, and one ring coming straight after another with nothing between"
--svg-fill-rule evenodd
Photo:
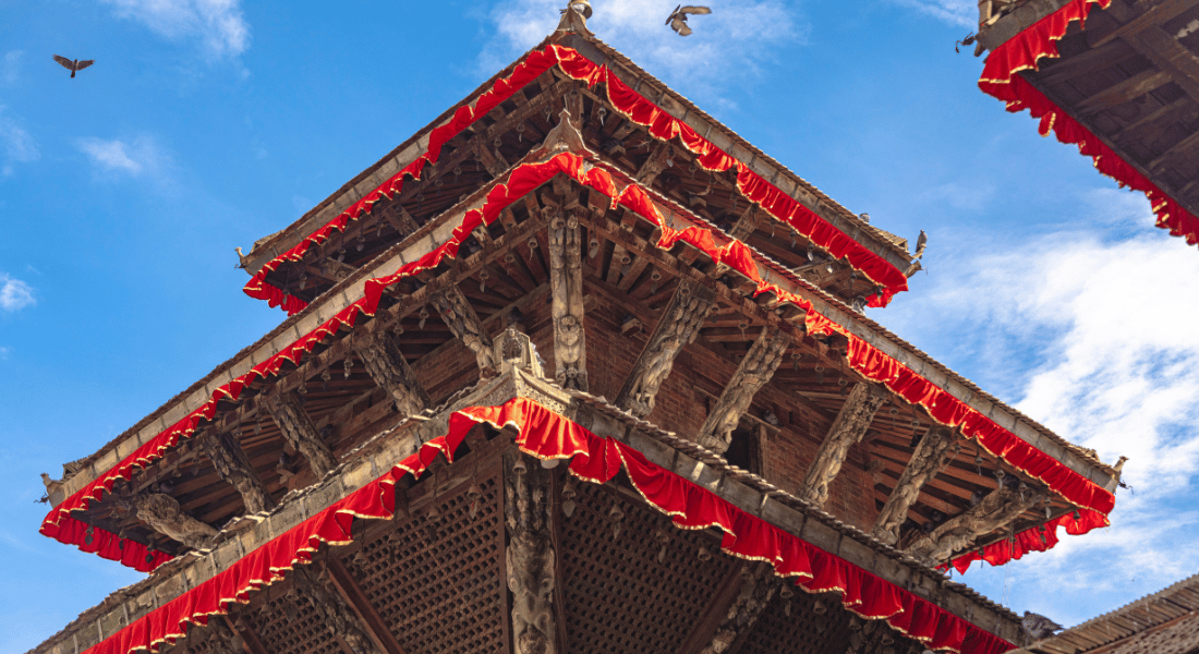
<instances>
[{"instance_id":1,"label":"slanted carved strut under middle roof, first right of vertical corner strut","mask_svg":"<svg viewBox=\"0 0 1199 654\"><path fill-rule=\"evenodd\" d=\"M699 335L699 328L716 306L716 294L703 286L682 280L670 304L662 312L645 349L633 365L616 396L616 406L645 418L653 412L655 396L670 374L675 356Z\"/></svg>"}]
</instances>

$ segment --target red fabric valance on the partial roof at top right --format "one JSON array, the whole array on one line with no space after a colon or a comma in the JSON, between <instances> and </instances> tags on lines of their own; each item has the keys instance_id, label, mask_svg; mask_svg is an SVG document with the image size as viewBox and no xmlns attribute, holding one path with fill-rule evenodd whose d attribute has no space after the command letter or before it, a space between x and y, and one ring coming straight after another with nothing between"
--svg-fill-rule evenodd
<instances>
[{"instance_id":1,"label":"red fabric valance on the partial roof at top right","mask_svg":"<svg viewBox=\"0 0 1199 654\"><path fill-rule=\"evenodd\" d=\"M1091 157L1099 173L1116 180L1120 186L1145 193L1157 215L1157 227L1169 229L1171 235L1185 238L1189 245L1199 244L1199 218L1194 214L1183 209L1177 200L1165 194L1115 150L1108 148L1090 130L1019 74L1020 71L1037 70L1037 61L1041 58L1061 56L1058 52L1058 41L1066 35L1070 24L1074 20L1085 23L1093 6L1107 8L1110 4L1111 0L1073 0L1037 20L987 56L978 88L1006 102L1008 112L1029 109L1032 118L1041 120L1041 136L1049 136L1052 130L1058 134L1058 140L1078 145L1079 152Z\"/></svg>"}]
</instances>

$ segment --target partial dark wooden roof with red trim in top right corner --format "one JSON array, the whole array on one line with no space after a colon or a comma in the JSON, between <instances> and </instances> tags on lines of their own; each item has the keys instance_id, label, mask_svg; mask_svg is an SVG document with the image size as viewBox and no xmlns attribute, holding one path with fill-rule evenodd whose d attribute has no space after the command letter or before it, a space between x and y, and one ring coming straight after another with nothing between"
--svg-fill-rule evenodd
<instances>
[{"instance_id":1,"label":"partial dark wooden roof with red trim in top right corner","mask_svg":"<svg viewBox=\"0 0 1199 654\"><path fill-rule=\"evenodd\" d=\"M1199 244L1199 1L980 0L978 86Z\"/></svg>"}]
</instances>

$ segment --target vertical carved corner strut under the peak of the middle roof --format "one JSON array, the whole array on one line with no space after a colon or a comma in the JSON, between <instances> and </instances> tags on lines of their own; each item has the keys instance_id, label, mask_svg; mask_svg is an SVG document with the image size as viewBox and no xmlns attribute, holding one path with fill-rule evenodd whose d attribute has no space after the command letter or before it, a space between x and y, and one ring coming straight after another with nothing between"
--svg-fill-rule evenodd
<instances>
[{"instance_id":1,"label":"vertical carved corner strut under the peak of the middle roof","mask_svg":"<svg viewBox=\"0 0 1199 654\"><path fill-rule=\"evenodd\" d=\"M549 284L553 292L554 378L564 389L588 390L583 328L583 239L573 212L549 226Z\"/></svg>"}]
</instances>

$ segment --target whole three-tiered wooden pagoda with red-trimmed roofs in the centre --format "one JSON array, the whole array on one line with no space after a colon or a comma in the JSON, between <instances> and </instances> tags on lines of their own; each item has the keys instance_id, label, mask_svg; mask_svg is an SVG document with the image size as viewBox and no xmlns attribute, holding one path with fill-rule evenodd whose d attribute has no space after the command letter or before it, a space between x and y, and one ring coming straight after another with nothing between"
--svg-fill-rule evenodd
<instances>
[{"instance_id":1,"label":"whole three-tiered wooden pagoda with red-trimmed roofs in the centre","mask_svg":"<svg viewBox=\"0 0 1199 654\"><path fill-rule=\"evenodd\" d=\"M864 314L923 244L586 26L241 259L288 318L48 485L38 654L999 654L1119 470Z\"/></svg>"}]
</instances>

